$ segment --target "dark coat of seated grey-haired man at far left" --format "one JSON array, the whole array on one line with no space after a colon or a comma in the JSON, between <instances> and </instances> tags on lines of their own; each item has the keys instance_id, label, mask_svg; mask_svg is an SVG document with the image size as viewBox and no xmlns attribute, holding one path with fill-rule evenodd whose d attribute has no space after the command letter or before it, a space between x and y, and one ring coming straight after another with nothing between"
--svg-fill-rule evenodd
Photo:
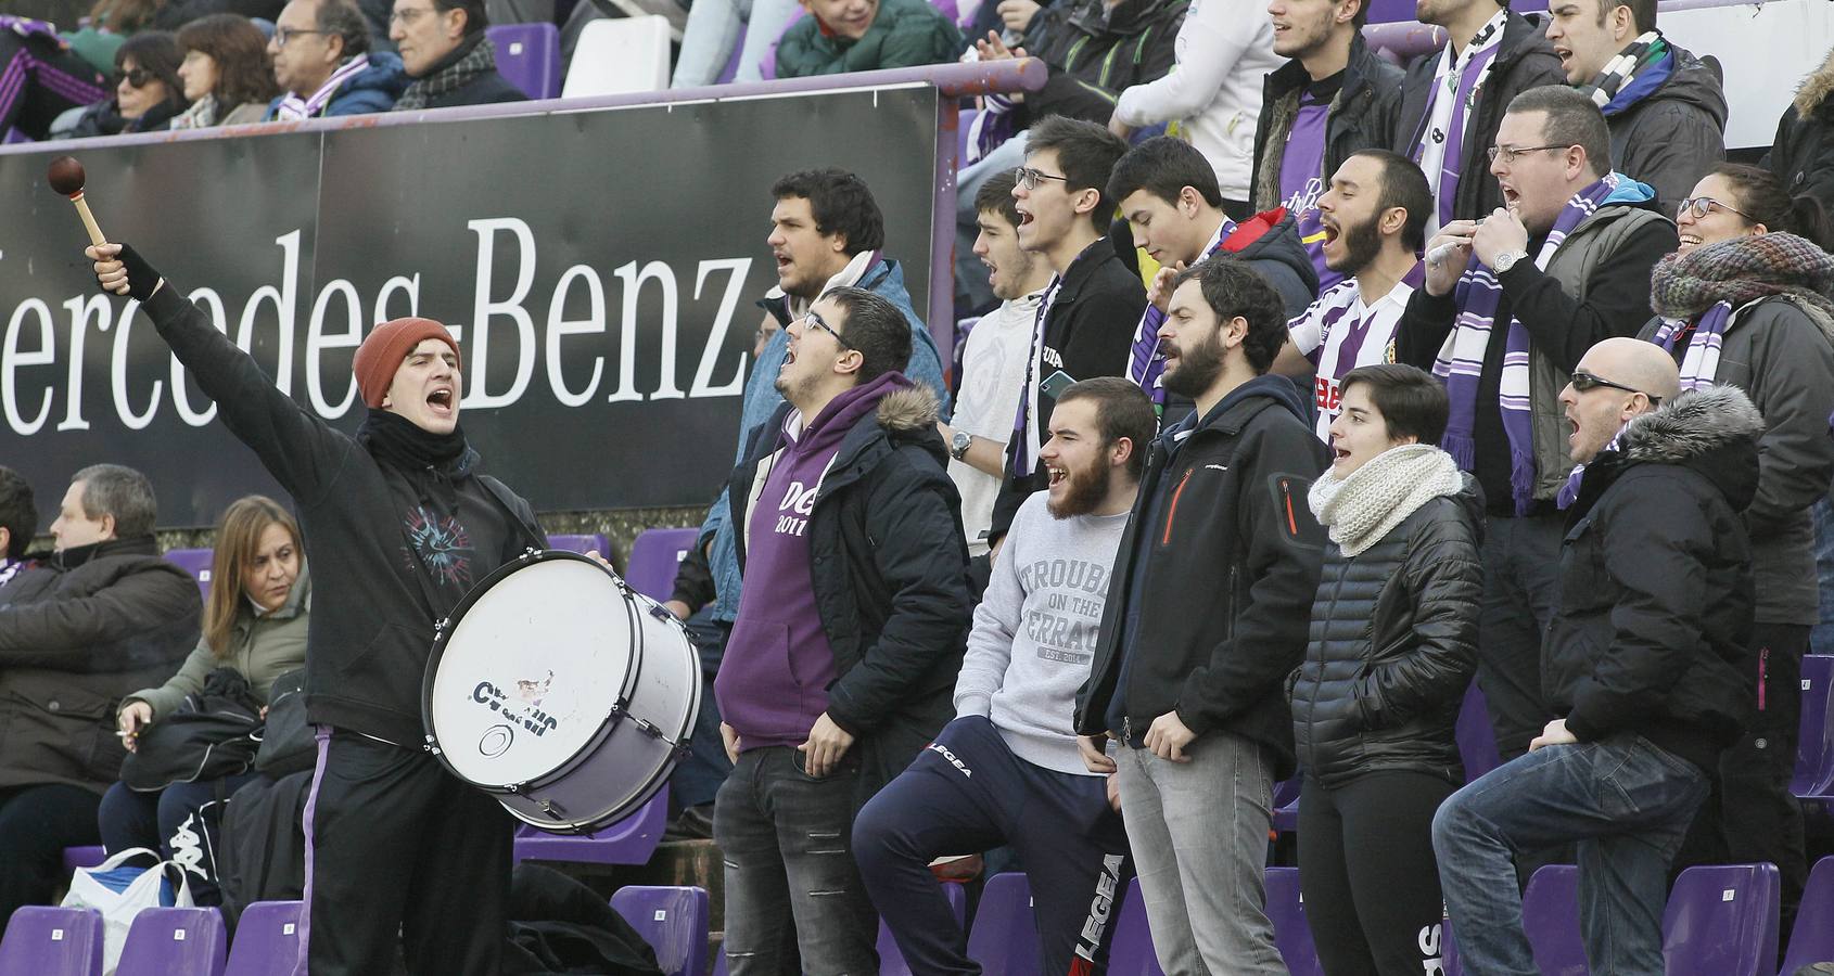
<instances>
[{"instance_id":1,"label":"dark coat of seated grey-haired man at far left","mask_svg":"<svg viewBox=\"0 0 1834 976\"><path fill-rule=\"evenodd\" d=\"M202 608L150 535L64 549L0 588L0 789L108 789L127 756L116 709L178 670Z\"/></svg>"}]
</instances>

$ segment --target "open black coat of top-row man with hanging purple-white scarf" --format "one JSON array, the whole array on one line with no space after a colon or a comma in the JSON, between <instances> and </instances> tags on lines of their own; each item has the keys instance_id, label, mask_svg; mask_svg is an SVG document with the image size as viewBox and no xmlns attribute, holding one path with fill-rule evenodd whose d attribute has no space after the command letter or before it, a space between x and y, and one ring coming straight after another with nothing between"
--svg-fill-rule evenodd
<instances>
[{"instance_id":1,"label":"open black coat of top-row man with hanging purple-white scarf","mask_svg":"<svg viewBox=\"0 0 1834 976\"><path fill-rule=\"evenodd\" d=\"M1454 220L1476 220L1502 207L1502 187L1491 176L1489 156L1484 150L1497 143L1497 126L1502 125L1509 101L1530 88L1566 84L1561 59L1542 35L1544 26L1542 16L1530 20L1515 11L1504 20L1502 44L1489 73L1484 75L1484 86L1476 92L1476 104L1465 126L1465 159L1458 170L1458 198L1453 200ZM1420 55L1407 66L1407 81L1401 82L1394 150L1409 159L1416 157L1421 139L1427 137L1427 97L1432 93L1440 57L1443 51Z\"/></svg>"}]
</instances>

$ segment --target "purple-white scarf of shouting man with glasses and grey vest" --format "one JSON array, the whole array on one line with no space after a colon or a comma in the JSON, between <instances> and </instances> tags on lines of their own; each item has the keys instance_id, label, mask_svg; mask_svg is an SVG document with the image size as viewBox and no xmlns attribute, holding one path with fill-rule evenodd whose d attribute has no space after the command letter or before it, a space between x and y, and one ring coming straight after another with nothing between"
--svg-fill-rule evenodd
<instances>
[{"instance_id":1,"label":"purple-white scarf of shouting man with glasses and grey vest","mask_svg":"<svg viewBox=\"0 0 1834 976\"><path fill-rule=\"evenodd\" d=\"M1535 255L1535 267L1546 271L1548 260L1559 251L1566 234L1597 212L1616 189L1618 174L1612 172L1574 194L1561 207L1561 216L1553 220L1546 244ZM1453 324L1453 333L1445 337L1438 359L1432 361L1432 375L1445 381L1445 394L1453 401L1442 447L1462 471L1475 471L1473 428L1478 412L1478 375L1484 372L1484 353L1489 350L1491 328L1497 324L1497 306L1502 304L1502 284L1473 253L1453 295L1458 298L1458 320ZM1509 436L1509 489L1515 496L1515 511L1528 515L1530 504L1535 500L1535 436L1530 419L1528 330L1515 317L1509 319L1506 342L1497 403L1502 408L1502 428Z\"/></svg>"}]
</instances>

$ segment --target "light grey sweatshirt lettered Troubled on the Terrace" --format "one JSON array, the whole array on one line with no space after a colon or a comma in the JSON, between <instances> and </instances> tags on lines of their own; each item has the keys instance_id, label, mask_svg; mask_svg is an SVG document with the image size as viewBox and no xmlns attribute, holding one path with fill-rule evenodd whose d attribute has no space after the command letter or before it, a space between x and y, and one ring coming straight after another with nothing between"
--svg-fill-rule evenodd
<instances>
[{"instance_id":1,"label":"light grey sweatshirt lettered Troubled on the Terrace","mask_svg":"<svg viewBox=\"0 0 1834 976\"><path fill-rule=\"evenodd\" d=\"M1047 493L1012 516L956 679L956 714L987 716L1018 758L1089 775L1071 716L1089 678L1128 515L1055 518Z\"/></svg>"}]
</instances>

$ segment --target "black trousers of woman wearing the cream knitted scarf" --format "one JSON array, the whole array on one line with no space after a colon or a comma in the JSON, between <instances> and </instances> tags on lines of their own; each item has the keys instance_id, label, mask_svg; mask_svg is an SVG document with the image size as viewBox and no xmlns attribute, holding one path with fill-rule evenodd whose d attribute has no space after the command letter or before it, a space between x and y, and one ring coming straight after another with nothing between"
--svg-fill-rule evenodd
<instances>
[{"instance_id":1,"label":"black trousers of woman wearing the cream knitted scarf","mask_svg":"<svg viewBox=\"0 0 1834 976\"><path fill-rule=\"evenodd\" d=\"M1425 773L1370 773L1337 789L1306 776L1298 888L1326 976L1443 969L1432 813L1454 789Z\"/></svg>"}]
</instances>

